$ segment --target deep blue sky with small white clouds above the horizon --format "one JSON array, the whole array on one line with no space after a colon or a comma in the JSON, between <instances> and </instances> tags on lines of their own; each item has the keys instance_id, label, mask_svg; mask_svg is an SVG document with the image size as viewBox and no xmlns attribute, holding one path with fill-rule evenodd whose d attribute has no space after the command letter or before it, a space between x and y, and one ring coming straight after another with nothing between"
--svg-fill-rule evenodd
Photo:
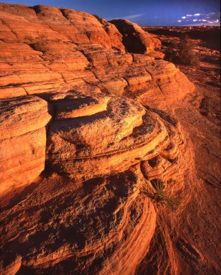
<instances>
[{"instance_id":1,"label":"deep blue sky with small white clouds above the horizon","mask_svg":"<svg viewBox=\"0 0 221 275\"><path fill-rule=\"evenodd\" d=\"M220 0L15 0L7 3L52 5L125 18L139 25L220 25Z\"/></svg>"}]
</instances>

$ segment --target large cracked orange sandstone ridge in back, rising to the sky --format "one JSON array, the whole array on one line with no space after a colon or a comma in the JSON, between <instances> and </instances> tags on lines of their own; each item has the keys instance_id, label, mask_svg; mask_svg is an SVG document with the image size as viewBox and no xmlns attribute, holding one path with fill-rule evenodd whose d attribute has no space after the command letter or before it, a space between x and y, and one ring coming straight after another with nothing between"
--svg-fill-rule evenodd
<instances>
[{"instance_id":1,"label":"large cracked orange sandstone ridge in back, rising to the sky","mask_svg":"<svg viewBox=\"0 0 221 275\"><path fill-rule=\"evenodd\" d=\"M43 5L1 3L0 13L0 98L97 87L165 108L194 89L173 64L154 60L160 41L129 21Z\"/></svg>"}]
</instances>

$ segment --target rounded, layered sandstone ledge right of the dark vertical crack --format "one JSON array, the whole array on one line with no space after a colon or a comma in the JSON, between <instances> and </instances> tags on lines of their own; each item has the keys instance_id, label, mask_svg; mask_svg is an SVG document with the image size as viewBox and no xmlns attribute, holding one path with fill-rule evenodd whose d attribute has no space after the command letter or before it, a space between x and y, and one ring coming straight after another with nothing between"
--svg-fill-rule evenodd
<instances>
[{"instance_id":1,"label":"rounded, layered sandstone ledge right of the dark vertical crack","mask_svg":"<svg viewBox=\"0 0 221 275\"><path fill-rule=\"evenodd\" d=\"M68 94L67 101L66 95L49 99L56 112L48 133L47 159L56 172L74 177L118 173L169 144L158 115L138 102L77 93Z\"/></svg>"}]
</instances>

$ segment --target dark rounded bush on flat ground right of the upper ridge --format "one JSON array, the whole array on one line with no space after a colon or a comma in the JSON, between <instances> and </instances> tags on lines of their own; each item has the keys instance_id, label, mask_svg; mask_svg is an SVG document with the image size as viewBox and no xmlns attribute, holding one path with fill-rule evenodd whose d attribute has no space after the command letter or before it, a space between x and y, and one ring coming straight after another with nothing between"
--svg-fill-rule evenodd
<instances>
[{"instance_id":1,"label":"dark rounded bush on flat ground right of the upper ridge","mask_svg":"<svg viewBox=\"0 0 221 275\"><path fill-rule=\"evenodd\" d=\"M196 43L185 34L181 37L179 43L171 42L166 52L166 58L173 63L198 67L198 65L200 65L200 57L194 50L195 46Z\"/></svg>"}]
</instances>

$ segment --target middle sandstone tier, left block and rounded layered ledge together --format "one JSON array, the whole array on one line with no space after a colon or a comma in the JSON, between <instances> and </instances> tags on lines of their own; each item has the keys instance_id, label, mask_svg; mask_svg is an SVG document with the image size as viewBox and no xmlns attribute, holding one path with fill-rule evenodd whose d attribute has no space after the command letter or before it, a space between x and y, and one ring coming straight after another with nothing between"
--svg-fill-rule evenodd
<instances>
[{"instance_id":1,"label":"middle sandstone tier, left block and rounded layered ledge together","mask_svg":"<svg viewBox=\"0 0 221 275\"><path fill-rule=\"evenodd\" d=\"M140 161L148 178L153 157L171 170L180 135L157 112L96 89L1 100L1 192L30 184L45 161L56 173L86 179Z\"/></svg>"}]
</instances>

